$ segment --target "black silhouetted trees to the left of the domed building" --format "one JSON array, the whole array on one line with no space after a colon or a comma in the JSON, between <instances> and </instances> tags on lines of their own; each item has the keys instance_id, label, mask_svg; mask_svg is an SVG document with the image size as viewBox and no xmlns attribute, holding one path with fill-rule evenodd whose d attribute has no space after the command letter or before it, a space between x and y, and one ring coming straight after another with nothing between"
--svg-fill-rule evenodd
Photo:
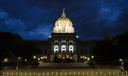
<instances>
[{"instance_id":1,"label":"black silhouetted trees to the left of the domed building","mask_svg":"<svg viewBox=\"0 0 128 76\"><path fill-rule=\"evenodd\" d=\"M4 58L9 58L9 63L16 63L19 56L31 59L34 54L39 53L41 53L39 48L26 42L19 35L0 32L0 64Z\"/></svg>"}]
</instances>

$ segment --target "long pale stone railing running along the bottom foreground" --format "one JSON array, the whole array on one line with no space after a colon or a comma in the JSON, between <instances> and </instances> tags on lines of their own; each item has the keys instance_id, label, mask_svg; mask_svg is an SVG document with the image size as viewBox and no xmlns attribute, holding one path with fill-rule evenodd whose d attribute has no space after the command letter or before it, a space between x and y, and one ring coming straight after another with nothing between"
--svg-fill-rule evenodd
<instances>
[{"instance_id":1,"label":"long pale stone railing running along the bottom foreground","mask_svg":"<svg viewBox=\"0 0 128 76\"><path fill-rule=\"evenodd\" d=\"M128 76L120 71L45 71L45 72L3 72L2 76Z\"/></svg>"}]
</instances>

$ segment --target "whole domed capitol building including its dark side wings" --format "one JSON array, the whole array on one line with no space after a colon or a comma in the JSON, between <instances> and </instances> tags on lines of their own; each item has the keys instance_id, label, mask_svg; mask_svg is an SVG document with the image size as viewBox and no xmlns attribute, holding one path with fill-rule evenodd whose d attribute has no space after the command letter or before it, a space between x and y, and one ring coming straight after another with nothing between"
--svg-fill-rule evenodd
<instances>
[{"instance_id":1,"label":"whole domed capitol building including its dark side wings","mask_svg":"<svg viewBox=\"0 0 128 76\"><path fill-rule=\"evenodd\" d=\"M91 50L95 46L95 41L79 39L65 10L55 22L48 40L34 43L42 50L38 57L46 58L47 62L83 62L94 57Z\"/></svg>"}]
</instances>

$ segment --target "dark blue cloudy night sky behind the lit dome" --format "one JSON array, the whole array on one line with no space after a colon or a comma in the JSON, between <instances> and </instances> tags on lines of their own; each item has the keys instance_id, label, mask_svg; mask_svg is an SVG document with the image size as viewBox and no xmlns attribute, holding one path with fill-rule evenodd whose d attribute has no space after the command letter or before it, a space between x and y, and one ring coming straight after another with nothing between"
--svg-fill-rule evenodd
<instances>
[{"instance_id":1,"label":"dark blue cloudy night sky behind the lit dome","mask_svg":"<svg viewBox=\"0 0 128 76\"><path fill-rule=\"evenodd\" d=\"M128 0L0 0L0 31L45 40L63 8L83 40L128 31Z\"/></svg>"}]
</instances>

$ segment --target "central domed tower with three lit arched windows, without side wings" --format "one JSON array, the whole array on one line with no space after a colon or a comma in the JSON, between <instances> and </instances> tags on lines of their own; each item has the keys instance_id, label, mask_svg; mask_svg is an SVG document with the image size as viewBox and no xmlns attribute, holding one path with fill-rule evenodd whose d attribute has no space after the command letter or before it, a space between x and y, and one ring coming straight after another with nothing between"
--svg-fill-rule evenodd
<instances>
[{"instance_id":1,"label":"central domed tower with three lit arched windows, without side wings","mask_svg":"<svg viewBox=\"0 0 128 76\"><path fill-rule=\"evenodd\" d=\"M72 21L65 11L55 22L49 38L50 62L77 62L79 51L79 38L75 32Z\"/></svg>"}]
</instances>

